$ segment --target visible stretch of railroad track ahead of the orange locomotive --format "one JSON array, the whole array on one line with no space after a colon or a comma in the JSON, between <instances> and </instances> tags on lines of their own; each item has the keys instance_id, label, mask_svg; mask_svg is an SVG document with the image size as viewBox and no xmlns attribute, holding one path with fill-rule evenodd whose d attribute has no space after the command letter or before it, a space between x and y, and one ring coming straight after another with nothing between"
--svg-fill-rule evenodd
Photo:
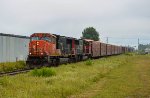
<instances>
[{"instance_id":1,"label":"visible stretch of railroad track ahead of the orange locomotive","mask_svg":"<svg viewBox=\"0 0 150 98\"><path fill-rule=\"evenodd\" d=\"M10 71L10 72L1 72L0 77L8 76L8 75L16 75L21 73L27 73L32 69L22 69L22 70L16 70L16 71Z\"/></svg>"}]
</instances>

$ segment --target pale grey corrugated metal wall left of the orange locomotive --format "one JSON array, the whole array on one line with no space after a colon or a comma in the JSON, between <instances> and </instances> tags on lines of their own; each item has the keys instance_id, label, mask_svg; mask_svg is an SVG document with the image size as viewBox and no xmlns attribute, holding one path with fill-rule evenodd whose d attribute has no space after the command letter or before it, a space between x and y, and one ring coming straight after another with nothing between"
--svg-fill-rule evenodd
<instances>
[{"instance_id":1,"label":"pale grey corrugated metal wall left of the orange locomotive","mask_svg":"<svg viewBox=\"0 0 150 98\"><path fill-rule=\"evenodd\" d=\"M29 37L0 34L0 62L26 60Z\"/></svg>"}]
</instances>

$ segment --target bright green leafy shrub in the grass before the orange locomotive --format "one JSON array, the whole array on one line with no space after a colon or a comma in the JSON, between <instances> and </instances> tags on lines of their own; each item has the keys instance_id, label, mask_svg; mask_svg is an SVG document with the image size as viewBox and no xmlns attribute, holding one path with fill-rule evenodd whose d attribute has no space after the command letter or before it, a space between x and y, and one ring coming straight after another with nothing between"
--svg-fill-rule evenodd
<instances>
[{"instance_id":1,"label":"bright green leafy shrub in the grass before the orange locomotive","mask_svg":"<svg viewBox=\"0 0 150 98\"><path fill-rule=\"evenodd\" d=\"M31 71L32 76L42 76L42 77L49 77L56 75L56 72L52 68L43 67L41 69L34 69Z\"/></svg>"}]
</instances>

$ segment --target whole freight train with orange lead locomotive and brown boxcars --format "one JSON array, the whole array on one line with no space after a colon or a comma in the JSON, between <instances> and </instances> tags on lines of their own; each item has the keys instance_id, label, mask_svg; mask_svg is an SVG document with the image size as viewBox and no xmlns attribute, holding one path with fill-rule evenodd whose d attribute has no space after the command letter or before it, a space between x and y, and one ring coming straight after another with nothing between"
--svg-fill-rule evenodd
<instances>
[{"instance_id":1,"label":"whole freight train with orange lead locomotive and brown boxcars","mask_svg":"<svg viewBox=\"0 0 150 98\"><path fill-rule=\"evenodd\" d=\"M133 51L131 47L117 46L76 39L50 33L34 33L30 36L29 55L26 63L31 66L59 65Z\"/></svg>"}]
</instances>

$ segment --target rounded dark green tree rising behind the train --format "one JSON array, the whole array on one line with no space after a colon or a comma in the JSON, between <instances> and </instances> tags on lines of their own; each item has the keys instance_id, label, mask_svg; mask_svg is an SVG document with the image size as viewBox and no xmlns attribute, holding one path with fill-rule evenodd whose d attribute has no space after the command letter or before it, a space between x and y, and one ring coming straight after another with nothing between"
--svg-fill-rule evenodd
<instances>
[{"instance_id":1,"label":"rounded dark green tree rising behind the train","mask_svg":"<svg viewBox=\"0 0 150 98\"><path fill-rule=\"evenodd\" d=\"M92 39L94 41L98 41L99 40L99 33L96 31L95 28L88 27L88 28L84 29L84 31L82 32L82 38L83 39Z\"/></svg>"}]
</instances>

